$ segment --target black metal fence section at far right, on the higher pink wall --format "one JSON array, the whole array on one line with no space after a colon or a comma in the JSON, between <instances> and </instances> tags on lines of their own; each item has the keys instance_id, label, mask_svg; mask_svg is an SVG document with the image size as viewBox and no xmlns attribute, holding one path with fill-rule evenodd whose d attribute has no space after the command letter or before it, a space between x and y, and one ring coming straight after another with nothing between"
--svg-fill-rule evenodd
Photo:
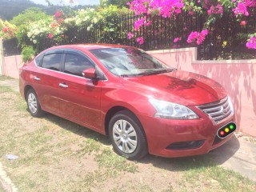
<instances>
[{"instance_id":1,"label":"black metal fence section at far right, on the higher pink wall","mask_svg":"<svg viewBox=\"0 0 256 192\"><path fill-rule=\"evenodd\" d=\"M246 26L242 26L237 19L230 11L216 20L205 42L198 47L200 59L256 59L256 50L246 48L247 34L256 31L256 9L250 10L249 17L241 18L241 21L246 21Z\"/></svg>"}]
</instances>

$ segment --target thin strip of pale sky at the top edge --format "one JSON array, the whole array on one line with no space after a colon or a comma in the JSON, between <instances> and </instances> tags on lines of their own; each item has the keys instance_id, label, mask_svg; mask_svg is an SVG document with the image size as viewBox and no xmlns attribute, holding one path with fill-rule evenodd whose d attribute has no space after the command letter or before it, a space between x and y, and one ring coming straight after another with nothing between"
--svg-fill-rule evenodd
<instances>
[{"instance_id":1,"label":"thin strip of pale sky at the top edge","mask_svg":"<svg viewBox=\"0 0 256 192\"><path fill-rule=\"evenodd\" d=\"M35 2L37 4L42 4L42 5L47 5L45 0L30 0L31 2ZM70 0L50 0L51 3L53 3L54 5L98 5L99 4L99 0L73 0L74 3L70 3Z\"/></svg>"}]
</instances>

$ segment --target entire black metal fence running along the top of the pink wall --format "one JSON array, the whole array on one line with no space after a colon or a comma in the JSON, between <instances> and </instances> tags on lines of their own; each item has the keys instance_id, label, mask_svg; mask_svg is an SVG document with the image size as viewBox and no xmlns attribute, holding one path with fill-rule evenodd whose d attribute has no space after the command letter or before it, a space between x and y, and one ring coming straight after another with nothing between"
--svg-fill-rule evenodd
<instances>
[{"instance_id":1,"label":"entire black metal fence running along the top of the pink wall","mask_svg":"<svg viewBox=\"0 0 256 192\"><path fill-rule=\"evenodd\" d=\"M128 39L128 32L134 29L134 22L138 18L144 18L145 22L151 22L150 26L144 26L141 30L134 32L134 38ZM195 42L188 44L187 37L191 31L201 31L206 16L202 14L190 15L182 11L174 14L172 18L162 18L158 15L138 16L135 14L119 15L118 17L106 18L104 22L97 24L84 24L82 26L70 26L64 34L53 39L43 37L36 47L38 52L50 46L77 44L77 43L111 43L128 46L137 46L143 50L176 49L198 46L198 59L229 59L229 58L256 58L256 50L246 48L246 36L256 31L256 11L250 10L250 17L246 18L246 26L241 26L231 12L223 14L210 27L205 42L198 46ZM144 38L144 43L139 45L137 37ZM180 41L174 42L174 38ZM5 42L5 45L8 43ZM33 43L31 43L33 45ZM35 46L35 45L33 45ZM5 46L11 47L11 46ZM14 50L7 48L6 52L18 53L17 45Z\"/></svg>"}]
</instances>

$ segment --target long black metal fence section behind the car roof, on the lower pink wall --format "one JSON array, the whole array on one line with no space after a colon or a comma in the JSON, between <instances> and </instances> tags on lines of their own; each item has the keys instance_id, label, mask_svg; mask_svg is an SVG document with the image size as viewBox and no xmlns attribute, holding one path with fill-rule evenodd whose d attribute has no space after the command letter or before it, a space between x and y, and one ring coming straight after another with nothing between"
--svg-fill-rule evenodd
<instances>
[{"instance_id":1,"label":"long black metal fence section behind the car roof, on the lower pink wall","mask_svg":"<svg viewBox=\"0 0 256 192\"><path fill-rule=\"evenodd\" d=\"M134 29L134 22L138 18L144 18L151 25L142 27L134 32L134 38L127 38L127 34ZM82 26L72 26L64 34L61 41L44 38L42 49L54 45L77 44L77 43L110 43L140 47L143 50L175 49L190 46L186 39L191 30L202 30L204 19L201 14L191 16L186 12L173 15L172 18L162 18L158 15L138 16L135 14L119 15L118 18L106 18L106 22L98 22L91 26L90 23ZM107 24L107 25L106 25ZM144 43L139 45L136 38L142 37ZM60 37L54 37L60 38ZM174 38L181 38L174 42Z\"/></svg>"}]
</instances>

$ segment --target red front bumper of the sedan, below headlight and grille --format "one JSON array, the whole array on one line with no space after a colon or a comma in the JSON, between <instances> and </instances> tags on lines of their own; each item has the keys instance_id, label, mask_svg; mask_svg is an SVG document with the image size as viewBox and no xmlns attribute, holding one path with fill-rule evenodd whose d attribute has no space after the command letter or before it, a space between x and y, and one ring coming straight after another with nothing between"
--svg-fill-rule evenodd
<instances>
[{"instance_id":1,"label":"red front bumper of the sedan, below headlight and grille","mask_svg":"<svg viewBox=\"0 0 256 192\"><path fill-rule=\"evenodd\" d=\"M232 137L233 134L218 138L217 131L227 122L235 122L234 114L217 125L206 114L200 116L193 120L170 120L138 114L146 133L149 153L168 158L207 154ZM189 149L170 147L171 144L175 146L177 143L194 141L199 141L198 145L192 145Z\"/></svg>"}]
</instances>

